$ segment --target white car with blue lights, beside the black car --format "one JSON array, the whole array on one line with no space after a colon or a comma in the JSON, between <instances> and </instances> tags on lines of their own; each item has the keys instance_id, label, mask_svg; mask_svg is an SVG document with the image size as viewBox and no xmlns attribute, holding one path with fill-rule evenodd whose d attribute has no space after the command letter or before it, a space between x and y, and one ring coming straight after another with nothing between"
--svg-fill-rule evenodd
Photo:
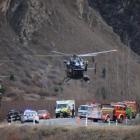
<instances>
[{"instance_id":1,"label":"white car with blue lights, beside the black car","mask_svg":"<svg viewBox=\"0 0 140 140\"><path fill-rule=\"evenodd\" d=\"M35 122L39 123L39 116L34 110L25 110L21 115L21 123L24 122Z\"/></svg>"}]
</instances>

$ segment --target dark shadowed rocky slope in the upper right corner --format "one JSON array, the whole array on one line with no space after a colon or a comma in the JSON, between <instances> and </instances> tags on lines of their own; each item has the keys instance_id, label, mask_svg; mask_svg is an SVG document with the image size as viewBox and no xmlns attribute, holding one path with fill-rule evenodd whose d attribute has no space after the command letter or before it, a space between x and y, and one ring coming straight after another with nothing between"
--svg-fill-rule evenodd
<instances>
[{"instance_id":1,"label":"dark shadowed rocky slope in the upper right corner","mask_svg":"<svg viewBox=\"0 0 140 140\"><path fill-rule=\"evenodd\" d=\"M101 13L123 43L140 54L139 0L89 0L89 4Z\"/></svg>"}]
</instances>

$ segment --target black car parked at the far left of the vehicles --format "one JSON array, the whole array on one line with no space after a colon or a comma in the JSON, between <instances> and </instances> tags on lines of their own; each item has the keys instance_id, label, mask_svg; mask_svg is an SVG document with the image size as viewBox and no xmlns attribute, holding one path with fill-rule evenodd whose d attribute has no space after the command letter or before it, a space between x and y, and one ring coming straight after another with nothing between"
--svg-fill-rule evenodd
<instances>
[{"instance_id":1,"label":"black car parked at the far left of the vehicles","mask_svg":"<svg viewBox=\"0 0 140 140\"><path fill-rule=\"evenodd\" d=\"M8 122L12 121L20 121L21 120L21 114L19 111L16 110L10 110L6 116Z\"/></svg>"}]
</instances>

